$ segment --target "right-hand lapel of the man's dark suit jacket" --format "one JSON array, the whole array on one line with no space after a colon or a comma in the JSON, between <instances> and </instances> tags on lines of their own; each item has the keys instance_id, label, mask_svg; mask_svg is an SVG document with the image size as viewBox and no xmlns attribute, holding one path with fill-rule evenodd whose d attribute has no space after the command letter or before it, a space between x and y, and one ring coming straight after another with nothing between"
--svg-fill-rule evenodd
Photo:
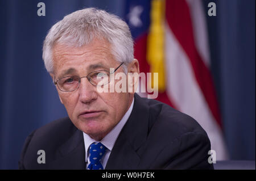
<instances>
[{"instance_id":1,"label":"right-hand lapel of the man's dark suit jacket","mask_svg":"<svg viewBox=\"0 0 256 181\"><path fill-rule=\"evenodd\" d=\"M138 149L146 141L149 108L142 98L134 95L134 107L111 151L105 169L137 169Z\"/></svg>"}]
</instances>

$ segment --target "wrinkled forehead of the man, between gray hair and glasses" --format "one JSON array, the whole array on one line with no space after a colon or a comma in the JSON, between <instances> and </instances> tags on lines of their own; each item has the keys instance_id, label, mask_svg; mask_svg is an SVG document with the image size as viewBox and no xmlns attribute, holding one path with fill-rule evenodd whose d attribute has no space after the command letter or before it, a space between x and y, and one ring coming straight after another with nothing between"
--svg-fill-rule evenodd
<instances>
[{"instance_id":1,"label":"wrinkled forehead of the man, between gray hair and glasses","mask_svg":"<svg viewBox=\"0 0 256 181\"><path fill-rule=\"evenodd\" d=\"M67 47L57 44L53 51L53 64L55 73L68 74L77 69L94 70L97 68L108 68L114 59L109 47L94 44L93 47Z\"/></svg>"}]
</instances>

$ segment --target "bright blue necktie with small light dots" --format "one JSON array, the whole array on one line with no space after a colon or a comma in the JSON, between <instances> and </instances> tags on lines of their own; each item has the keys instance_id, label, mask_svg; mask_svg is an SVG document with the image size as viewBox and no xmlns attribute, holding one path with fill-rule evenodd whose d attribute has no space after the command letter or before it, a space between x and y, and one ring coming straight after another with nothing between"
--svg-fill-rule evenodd
<instances>
[{"instance_id":1,"label":"bright blue necktie with small light dots","mask_svg":"<svg viewBox=\"0 0 256 181\"><path fill-rule=\"evenodd\" d=\"M101 158L104 155L105 151L106 147L100 142L94 142L90 145L90 164L88 165L88 170L103 170L103 166L101 165Z\"/></svg>"}]
</instances>

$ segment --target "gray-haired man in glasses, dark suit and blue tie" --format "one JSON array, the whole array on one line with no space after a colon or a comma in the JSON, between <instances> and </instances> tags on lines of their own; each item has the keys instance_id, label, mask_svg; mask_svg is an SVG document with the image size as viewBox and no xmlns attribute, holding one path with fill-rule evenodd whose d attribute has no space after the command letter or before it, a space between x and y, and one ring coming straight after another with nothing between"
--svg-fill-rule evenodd
<instances>
[{"instance_id":1,"label":"gray-haired man in glasses, dark suit and blue tie","mask_svg":"<svg viewBox=\"0 0 256 181\"><path fill-rule=\"evenodd\" d=\"M43 60L68 117L27 137L20 169L213 169L207 133L192 117L134 91L98 91L117 83L113 73L139 73L117 16L93 8L65 16L49 30Z\"/></svg>"}]
</instances>

